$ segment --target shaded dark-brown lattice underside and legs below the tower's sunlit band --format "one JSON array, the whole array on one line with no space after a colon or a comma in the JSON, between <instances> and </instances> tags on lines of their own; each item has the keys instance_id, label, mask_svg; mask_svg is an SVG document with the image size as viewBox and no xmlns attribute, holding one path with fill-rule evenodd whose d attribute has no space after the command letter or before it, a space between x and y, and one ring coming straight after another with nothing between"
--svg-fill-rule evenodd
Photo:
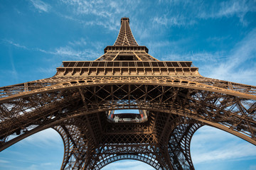
<instances>
[{"instance_id":1,"label":"shaded dark-brown lattice underside and legs below the tower's sunlit band","mask_svg":"<svg viewBox=\"0 0 256 170\"><path fill-rule=\"evenodd\" d=\"M156 169L193 169L189 144L201 125L256 144L256 104L250 96L162 84L99 82L31 93L1 102L1 149L55 127L65 143L62 169L100 169L122 158L141 160ZM149 111L149 120L139 124L106 121L106 111L131 108Z\"/></svg>"}]
</instances>

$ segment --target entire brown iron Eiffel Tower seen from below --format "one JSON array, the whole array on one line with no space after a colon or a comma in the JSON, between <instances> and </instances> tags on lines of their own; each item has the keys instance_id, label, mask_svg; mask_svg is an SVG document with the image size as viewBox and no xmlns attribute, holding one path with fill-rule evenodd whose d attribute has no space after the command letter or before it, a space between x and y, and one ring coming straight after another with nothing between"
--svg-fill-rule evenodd
<instances>
[{"instance_id":1,"label":"entire brown iron Eiffel Tower seen from below","mask_svg":"<svg viewBox=\"0 0 256 170\"><path fill-rule=\"evenodd\" d=\"M55 76L0 88L0 151L47 128L64 142L60 169L102 169L121 159L194 169L203 125L256 145L256 86L210 79L189 61L159 61L121 19L95 61L64 61ZM12 137L10 137L12 135Z\"/></svg>"}]
</instances>

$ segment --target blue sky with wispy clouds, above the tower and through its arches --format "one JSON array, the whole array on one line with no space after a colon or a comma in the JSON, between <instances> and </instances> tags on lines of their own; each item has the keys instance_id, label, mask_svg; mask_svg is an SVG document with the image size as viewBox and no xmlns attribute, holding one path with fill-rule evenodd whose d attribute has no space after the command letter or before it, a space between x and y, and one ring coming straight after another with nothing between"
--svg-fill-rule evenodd
<instances>
[{"instance_id":1,"label":"blue sky with wispy clouds, above the tower and through its arches","mask_svg":"<svg viewBox=\"0 0 256 170\"><path fill-rule=\"evenodd\" d=\"M0 86L52 77L65 60L95 60L124 16L157 59L193 61L205 77L256 85L256 1L1 0ZM191 154L196 169L256 169L255 146L209 127L196 132ZM61 138L45 130L0 152L0 169L59 169L62 158Z\"/></svg>"}]
</instances>

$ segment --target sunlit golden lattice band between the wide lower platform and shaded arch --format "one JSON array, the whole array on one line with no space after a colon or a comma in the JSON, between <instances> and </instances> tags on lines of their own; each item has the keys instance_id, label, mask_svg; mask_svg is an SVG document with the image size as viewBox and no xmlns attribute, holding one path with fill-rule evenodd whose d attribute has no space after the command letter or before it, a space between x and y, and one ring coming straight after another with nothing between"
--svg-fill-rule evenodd
<instances>
[{"instance_id":1,"label":"sunlit golden lattice band between the wide lower platform and shaded arch","mask_svg":"<svg viewBox=\"0 0 256 170\"><path fill-rule=\"evenodd\" d=\"M0 101L9 100L16 96L24 96L30 94L41 93L43 91L67 89L70 86L86 86L92 84L103 83L134 83L139 84L166 84L167 86L182 86L192 89L203 89L206 91L215 91L220 93L229 93L234 96L242 96L244 98L252 98L256 96L256 87L246 84L238 84L230 81L222 81L218 79L210 79L207 77L51 77L48 79L41 79L36 81L26 82L24 84L16 84L11 86L4 86L0 88ZM252 96L248 96L252 95Z\"/></svg>"}]
</instances>

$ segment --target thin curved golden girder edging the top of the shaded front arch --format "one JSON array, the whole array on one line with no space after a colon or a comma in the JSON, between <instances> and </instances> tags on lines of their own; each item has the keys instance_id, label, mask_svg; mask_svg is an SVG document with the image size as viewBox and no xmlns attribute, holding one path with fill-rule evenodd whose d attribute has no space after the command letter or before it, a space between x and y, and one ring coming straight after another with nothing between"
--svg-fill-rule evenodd
<instances>
[{"instance_id":1,"label":"thin curved golden girder edging the top of the shaded front arch","mask_svg":"<svg viewBox=\"0 0 256 170\"><path fill-rule=\"evenodd\" d=\"M66 81L61 84L55 84L52 86L46 86L42 89L35 89L33 91L24 91L19 94L14 94L11 96L6 96L0 98L0 103L16 99L24 98L27 96L32 96L34 94L43 94L51 91L58 91L63 89L74 89L78 87L86 86L104 86L111 84L148 84L148 85L161 85L161 86L174 86L174 87L183 87L186 89L198 89L204 91L212 91L221 94L230 94L233 96L239 96L242 98L250 98L256 100L255 94L242 93L240 91L235 91L232 89L224 89L223 87L210 86L207 84L201 84L194 81L188 81L184 79L178 79L173 77L102 77L101 79L88 80L88 79L73 79L72 81ZM255 87L256 89L256 87Z\"/></svg>"}]
</instances>

